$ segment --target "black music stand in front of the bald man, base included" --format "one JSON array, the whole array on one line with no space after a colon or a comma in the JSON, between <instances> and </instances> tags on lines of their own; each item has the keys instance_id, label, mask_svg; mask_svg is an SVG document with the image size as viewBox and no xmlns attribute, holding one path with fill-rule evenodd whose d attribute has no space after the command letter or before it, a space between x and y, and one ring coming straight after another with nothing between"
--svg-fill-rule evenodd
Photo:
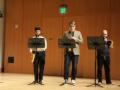
<instances>
[{"instance_id":1,"label":"black music stand in front of the bald man, base included","mask_svg":"<svg viewBox=\"0 0 120 90\"><path fill-rule=\"evenodd\" d=\"M97 76L96 76L96 62L97 62L97 49L98 48L103 48L104 47L104 39L103 37L98 37L98 36L88 36L87 37L87 44L88 44L88 49L91 49L91 50L95 50L95 82L91 85L88 85L87 87L90 87L90 86L99 86L99 87L103 87L101 86L100 84L96 83L96 79L97 79Z\"/></svg>"}]
</instances>

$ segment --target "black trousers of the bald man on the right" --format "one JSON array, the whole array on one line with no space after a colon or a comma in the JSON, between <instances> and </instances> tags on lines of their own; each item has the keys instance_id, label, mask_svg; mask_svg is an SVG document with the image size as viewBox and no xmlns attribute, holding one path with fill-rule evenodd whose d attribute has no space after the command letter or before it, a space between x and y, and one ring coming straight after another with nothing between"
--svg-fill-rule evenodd
<instances>
[{"instance_id":1,"label":"black trousers of the bald man on the right","mask_svg":"<svg viewBox=\"0 0 120 90\"><path fill-rule=\"evenodd\" d=\"M105 70L105 79L106 83L111 83L110 78L110 56L97 56L97 77L98 82L102 82L102 67L104 66Z\"/></svg>"}]
</instances>

